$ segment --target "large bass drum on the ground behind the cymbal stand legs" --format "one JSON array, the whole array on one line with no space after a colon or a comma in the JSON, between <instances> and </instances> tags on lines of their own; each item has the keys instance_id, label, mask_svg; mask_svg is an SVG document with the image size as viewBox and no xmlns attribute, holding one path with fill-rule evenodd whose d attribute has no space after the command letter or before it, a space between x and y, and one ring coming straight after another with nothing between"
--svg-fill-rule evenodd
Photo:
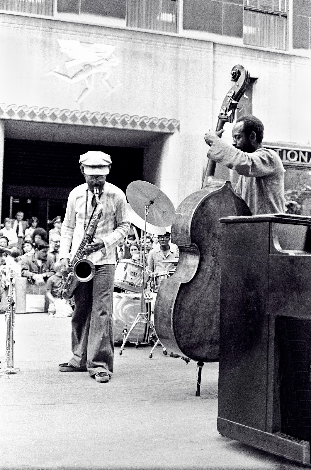
<instances>
[{"instance_id":1,"label":"large bass drum on the ground behind the cymbal stand legs","mask_svg":"<svg viewBox=\"0 0 311 470\"><path fill-rule=\"evenodd\" d=\"M145 298L145 312L150 320L150 298ZM114 342L122 343L123 330L129 331L140 312L141 297L137 294L114 292L113 330ZM129 335L129 342L148 343L150 327L144 321L138 322Z\"/></svg>"}]
</instances>

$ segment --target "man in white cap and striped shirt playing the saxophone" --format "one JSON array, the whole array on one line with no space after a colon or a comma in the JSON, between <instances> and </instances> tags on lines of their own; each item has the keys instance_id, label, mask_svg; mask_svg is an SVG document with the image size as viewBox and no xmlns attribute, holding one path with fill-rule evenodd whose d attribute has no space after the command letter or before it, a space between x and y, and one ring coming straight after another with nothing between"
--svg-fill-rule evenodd
<instances>
[{"instance_id":1,"label":"man in white cap and striped shirt playing the saxophone","mask_svg":"<svg viewBox=\"0 0 311 470\"><path fill-rule=\"evenodd\" d=\"M96 206L94 188L97 187L102 216L93 242L85 246L87 258L95 266L95 274L91 281L79 282L75 290L76 306L71 322L73 356L59 365L62 372L88 371L97 382L108 382L113 374L115 247L129 232L125 194L106 182L110 167L110 156L103 152L89 151L80 156L85 183L69 194L59 251L62 269L67 270L70 254L75 255L92 218Z\"/></svg>"}]
</instances>

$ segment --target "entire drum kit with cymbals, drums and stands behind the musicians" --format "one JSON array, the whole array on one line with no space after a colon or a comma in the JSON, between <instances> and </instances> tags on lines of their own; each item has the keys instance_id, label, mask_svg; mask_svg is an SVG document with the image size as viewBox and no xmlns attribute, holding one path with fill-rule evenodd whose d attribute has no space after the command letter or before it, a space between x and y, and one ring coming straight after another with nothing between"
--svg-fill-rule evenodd
<instances>
[{"instance_id":1,"label":"entire drum kit with cymbals, drums and stands behind the musicians","mask_svg":"<svg viewBox=\"0 0 311 470\"><path fill-rule=\"evenodd\" d=\"M140 262L131 259L120 259L117 263L114 276L114 285L126 292L118 294L114 292L114 337L119 341L123 335L122 345L119 354L122 354L127 341L133 341L136 337L136 347L140 343L146 343L149 331L152 330L152 337L156 337L156 345L159 338L151 321L151 295L146 292L147 283L151 281L151 291L158 292L159 283L174 273L174 269L163 271L153 275L146 268L146 233L153 235L164 235L166 227L172 224L175 209L170 199L157 187L147 181L133 181L126 190L128 198L129 220L132 224L142 230L144 243L141 243ZM163 262L177 264L178 258L173 260L163 260ZM140 294L138 296L137 294ZM140 301L140 305L138 305ZM135 319L134 314L137 312ZM129 330L123 328L121 333L120 325L128 326L133 320ZM144 328L141 329L141 324ZM119 325L119 328L118 328ZM155 346L154 346L155 347ZM154 347L152 349L154 349ZM167 354L166 348L162 345L163 353ZM149 355L152 357L152 353Z\"/></svg>"}]
</instances>

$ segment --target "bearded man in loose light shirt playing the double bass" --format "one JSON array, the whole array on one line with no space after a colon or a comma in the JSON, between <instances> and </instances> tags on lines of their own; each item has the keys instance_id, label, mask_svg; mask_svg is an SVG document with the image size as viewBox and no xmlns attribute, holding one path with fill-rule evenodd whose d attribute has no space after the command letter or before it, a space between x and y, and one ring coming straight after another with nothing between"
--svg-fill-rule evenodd
<instances>
[{"instance_id":1,"label":"bearded man in loose light shirt playing the double bass","mask_svg":"<svg viewBox=\"0 0 311 470\"><path fill-rule=\"evenodd\" d=\"M237 119L233 147L220 139L224 130L205 134L207 157L240 175L235 191L253 215L284 212L284 168L279 155L262 147L264 125L249 114Z\"/></svg>"}]
</instances>

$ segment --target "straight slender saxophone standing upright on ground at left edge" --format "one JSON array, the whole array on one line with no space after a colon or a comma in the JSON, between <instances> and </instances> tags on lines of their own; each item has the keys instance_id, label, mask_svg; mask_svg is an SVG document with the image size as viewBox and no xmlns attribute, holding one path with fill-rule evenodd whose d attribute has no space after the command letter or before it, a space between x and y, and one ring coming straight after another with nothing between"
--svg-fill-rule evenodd
<instances>
[{"instance_id":1,"label":"straight slender saxophone standing upright on ground at left edge","mask_svg":"<svg viewBox=\"0 0 311 470\"><path fill-rule=\"evenodd\" d=\"M8 308L6 311L6 322L7 322L7 340L6 340L6 363L7 367L4 369L5 374L15 374L19 371L19 368L14 367L14 337L13 329L15 322L15 301L14 301L14 275L13 271L9 272L9 285L8 285L8 297L7 304Z\"/></svg>"}]
</instances>

